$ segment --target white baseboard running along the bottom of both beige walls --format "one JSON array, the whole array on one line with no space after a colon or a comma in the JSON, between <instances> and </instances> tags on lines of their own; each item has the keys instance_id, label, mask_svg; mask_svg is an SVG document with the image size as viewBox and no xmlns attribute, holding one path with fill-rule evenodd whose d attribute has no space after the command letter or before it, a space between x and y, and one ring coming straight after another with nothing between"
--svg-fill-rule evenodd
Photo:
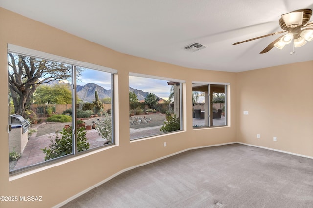
<instances>
[{"instance_id":1,"label":"white baseboard running along the bottom of both beige walls","mask_svg":"<svg viewBox=\"0 0 313 208\"><path fill-rule=\"evenodd\" d=\"M296 155L296 156L300 156L300 157L306 157L306 158L311 158L313 159L313 157L310 157L310 156L306 156L306 155L300 155L300 154L295 154L295 153L292 153L292 152L286 152L286 151L282 151L282 150L278 150L278 149L272 149L272 148L268 148L268 147L264 147L264 146L257 146L257 145L250 145L250 144L247 144L247 143L242 143L242 142L228 142L228 143L221 143L221 144L216 144L216 145L208 145L208 146L197 146L197 147L191 147L191 148L188 148L188 149L184 149L184 150L181 150L179 152L175 152L173 154L169 154L169 155L166 155L164 157L160 157L160 158L157 158L155 160L151 160L151 161L148 161L148 162L145 162L145 163L142 163L142 164L139 164L139 165L136 165L136 166L132 166L132 167L128 167L128 168L125 168L115 174L113 174L112 176L110 176L109 178L106 178L104 179L103 181L79 192L78 194L68 198L67 200L61 202L60 204L54 206L53 208L59 208L65 204L67 204L68 202L76 199L77 197L83 195L84 193L87 193L88 191L92 190L93 188L95 187L98 187L102 184L104 184L105 182L111 180L112 178L122 174L123 172L126 172L126 171L129 171L129 170L132 170L134 168L137 168L137 167L140 167L140 166L144 166L144 165L147 165L147 164L150 164L150 163L154 163L156 161L159 161L159 160L162 160L162 159L165 159L165 158L168 158L168 157L171 157L171 156L174 156L174 155L177 155L177 154L180 154L182 152L185 152L185 151L189 151L189 150L193 150L193 149L200 149L200 148L206 148L206 147L212 147L212 146L222 146L222 145L230 145L230 144L242 144L242 145L246 145L246 146L254 146L254 147L258 147L258 148L263 148L263 149L268 149L268 150L272 150L272 151L277 151L277 152L283 152L283 153L287 153L287 154L291 154L291 155Z\"/></svg>"}]
</instances>

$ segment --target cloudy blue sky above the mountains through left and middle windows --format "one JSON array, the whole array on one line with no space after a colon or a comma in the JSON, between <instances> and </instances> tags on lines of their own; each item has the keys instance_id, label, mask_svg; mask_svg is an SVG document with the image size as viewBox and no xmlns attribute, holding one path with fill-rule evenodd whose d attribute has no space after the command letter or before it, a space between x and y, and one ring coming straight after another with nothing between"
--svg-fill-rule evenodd
<instances>
[{"instance_id":1,"label":"cloudy blue sky above the mountains through left and middle windows","mask_svg":"<svg viewBox=\"0 0 313 208\"><path fill-rule=\"evenodd\" d=\"M78 85L94 83L107 90L111 89L111 74L107 72L85 69L79 79L81 81L77 80ZM129 76L130 87L144 92L154 93L165 100L168 99L171 88L167 82L167 80Z\"/></svg>"}]
</instances>

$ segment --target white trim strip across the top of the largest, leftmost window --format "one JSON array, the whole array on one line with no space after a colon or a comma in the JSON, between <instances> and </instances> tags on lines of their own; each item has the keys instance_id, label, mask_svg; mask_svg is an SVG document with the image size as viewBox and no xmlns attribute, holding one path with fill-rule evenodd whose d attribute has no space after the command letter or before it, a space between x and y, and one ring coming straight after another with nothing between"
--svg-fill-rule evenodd
<instances>
[{"instance_id":1,"label":"white trim strip across the top of the largest, leftmost window","mask_svg":"<svg viewBox=\"0 0 313 208\"><path fill-rule=\"evenodd\" d=\"M82 62L82 61L78 61L78 60L74 60L74 59L69 59L69 58L65 58L65 57L62 57L62 56L57 56L57 55L45 53L45 52L42 52L42 51L29 49L29 48L24 48L22 46L7 44L7 48L8 48L8 52L9 53L18 53L18 54L22 54L22 55L26 55L26 56L31 56L31 57L41 58L41 59L45 59L45 60L50 60L50 61L53 61L53 62L62 62L62 63L65 63L65 64L71 64L71 65L80 66L80 67L84 67L84 68L96 69L96 70L100 70L100 71L104 71L104 72L109 72L109 73L112 73L112 74L117 74L117 70L116 69L108 68L108 67L105 67L105 66L99 66L99 65L96 65L96 64L93 64L93 63L88 63L88 62Z\"/></svg>"}]
</instances>

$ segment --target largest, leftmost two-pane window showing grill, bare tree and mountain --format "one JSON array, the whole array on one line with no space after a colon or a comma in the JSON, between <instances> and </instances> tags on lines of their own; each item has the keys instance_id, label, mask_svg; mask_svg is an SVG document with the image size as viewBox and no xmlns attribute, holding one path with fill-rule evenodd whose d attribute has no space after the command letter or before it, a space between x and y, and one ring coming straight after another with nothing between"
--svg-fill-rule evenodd
<instances>
[{"instance_id":1,"label":"largest, leftmost two-pane window showing grill, bare tree and mountain","mask_svg":"<svg viewBox=\"0 0 313 208\"><path fill-rule=\"evenodd\" d=\"M113 143L110 69L34 53L8 52L10 172Z\"/></svg>"}]
</instances>

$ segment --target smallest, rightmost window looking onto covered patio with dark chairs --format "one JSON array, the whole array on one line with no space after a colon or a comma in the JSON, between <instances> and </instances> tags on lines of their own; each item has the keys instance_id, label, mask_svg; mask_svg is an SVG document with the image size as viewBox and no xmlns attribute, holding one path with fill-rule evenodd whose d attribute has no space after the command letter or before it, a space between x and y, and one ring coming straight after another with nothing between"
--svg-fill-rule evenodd
<instances>
[{"instance_id":1,"label":"smallest, rightmost window looking onto covered patio with dark chairs","mask_svg":"<svg viewBox=\"0 0 313 208\"><path fill-rule=\"evenodd\" d=\"M193 128L227 126L229 84L193 83Z\"/></svg>"}]
</instances>

